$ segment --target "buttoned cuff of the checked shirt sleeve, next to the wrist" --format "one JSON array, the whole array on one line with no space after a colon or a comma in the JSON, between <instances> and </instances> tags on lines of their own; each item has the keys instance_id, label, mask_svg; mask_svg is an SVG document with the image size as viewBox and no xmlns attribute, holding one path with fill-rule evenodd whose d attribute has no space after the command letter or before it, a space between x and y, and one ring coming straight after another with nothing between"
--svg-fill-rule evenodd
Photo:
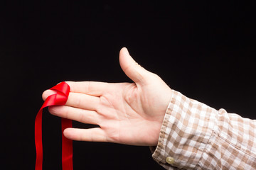
<instances>
[{"instance_id":1,"label":"buttoned cuff of the checked shirt sleeve, next to the wrist","mask_svg":"<svg viewBox=\"0 0 256 170\"><path fill-rule=\"evenodd\" d=\"M172 90L152 157L166 169L194 169L215 127L217 112Z\"/></svg>"}]
</instances>

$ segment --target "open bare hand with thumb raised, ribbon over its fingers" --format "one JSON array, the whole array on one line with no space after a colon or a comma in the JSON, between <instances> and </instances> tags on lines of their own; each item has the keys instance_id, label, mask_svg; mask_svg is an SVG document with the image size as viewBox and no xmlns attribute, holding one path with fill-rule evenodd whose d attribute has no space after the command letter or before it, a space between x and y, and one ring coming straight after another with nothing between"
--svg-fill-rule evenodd
<instances>
[{"instance_id":1,"label":"open bare hand with thumb raised, ribbon over its fingers","mask_svg":"<svg viewBox=\"0 0 256 170\"><path fill-rule=\"evenodd\" d=\"M99 125L100 128L67 128L70 140L116 142L127 145L155 146L171 89L164 81L142 68L126 48L119 62L134 83L109 84L95 81L66 81L70 95L65 106L52 106L49 111L62 118ZM43 100L55 93L47 90Z\"/></svg>"}]
</instances>

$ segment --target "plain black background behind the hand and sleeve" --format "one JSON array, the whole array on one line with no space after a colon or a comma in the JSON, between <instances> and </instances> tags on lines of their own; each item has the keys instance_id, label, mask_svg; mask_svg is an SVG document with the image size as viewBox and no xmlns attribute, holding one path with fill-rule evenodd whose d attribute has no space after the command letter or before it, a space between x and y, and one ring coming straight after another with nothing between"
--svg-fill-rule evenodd
<instances>
[{"instance_id":1,"label":"plain black background behind the hand and sleeve","mask_svg":"<svg viewBox=\"0 0 256 170\"><path fill-rule=\"evenodd\" d=\"M119 67L121 47L172 89L256 118L253 1L1 1L0 9L4 169L34 169L44 90L66 80L130 81ZM60 137L60 118L45 110L44 169L61 169ZM149 147L73 146L76 170L162 169Z\"/></svg>"}]
</instances>

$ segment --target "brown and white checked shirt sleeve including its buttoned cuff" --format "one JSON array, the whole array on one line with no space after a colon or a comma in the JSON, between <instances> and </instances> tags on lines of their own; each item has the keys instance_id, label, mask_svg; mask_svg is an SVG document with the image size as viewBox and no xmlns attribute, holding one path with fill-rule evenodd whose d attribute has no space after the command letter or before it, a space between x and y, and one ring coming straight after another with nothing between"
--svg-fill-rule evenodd
<instances>
[{"instance_id":1,"label":"brown and white checked shirt sleeve including its buttoned cuff","mask_svg":"<svg viewBox=\"0 0 256 170\"><path fill-rule=\"evenodd\" d=\"M166 169L256 169L256 120L216 111L173 90L151 152Z\"/></svg>"}]
</instances>

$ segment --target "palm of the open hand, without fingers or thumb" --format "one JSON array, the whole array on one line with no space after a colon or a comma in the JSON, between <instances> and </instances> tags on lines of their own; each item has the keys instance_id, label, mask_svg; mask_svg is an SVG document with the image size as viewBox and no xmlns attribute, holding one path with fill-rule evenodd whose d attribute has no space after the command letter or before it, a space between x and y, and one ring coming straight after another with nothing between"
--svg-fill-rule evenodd
<instances>
[{"instance_id":1,"label":"palm of the open hand, without fingers or thumb","mask_svg":"<svg viewBox=\"0 0 256 170\"><path fill-rule=\"evenodd\" d=\"M154 91L159 85L110 85L109 91L100 97L98 108L99 124L107 133L108 141L129 145L156 144L169 102L169 94L159 98L159 91Z\"/></svg>"}]
</instances>

